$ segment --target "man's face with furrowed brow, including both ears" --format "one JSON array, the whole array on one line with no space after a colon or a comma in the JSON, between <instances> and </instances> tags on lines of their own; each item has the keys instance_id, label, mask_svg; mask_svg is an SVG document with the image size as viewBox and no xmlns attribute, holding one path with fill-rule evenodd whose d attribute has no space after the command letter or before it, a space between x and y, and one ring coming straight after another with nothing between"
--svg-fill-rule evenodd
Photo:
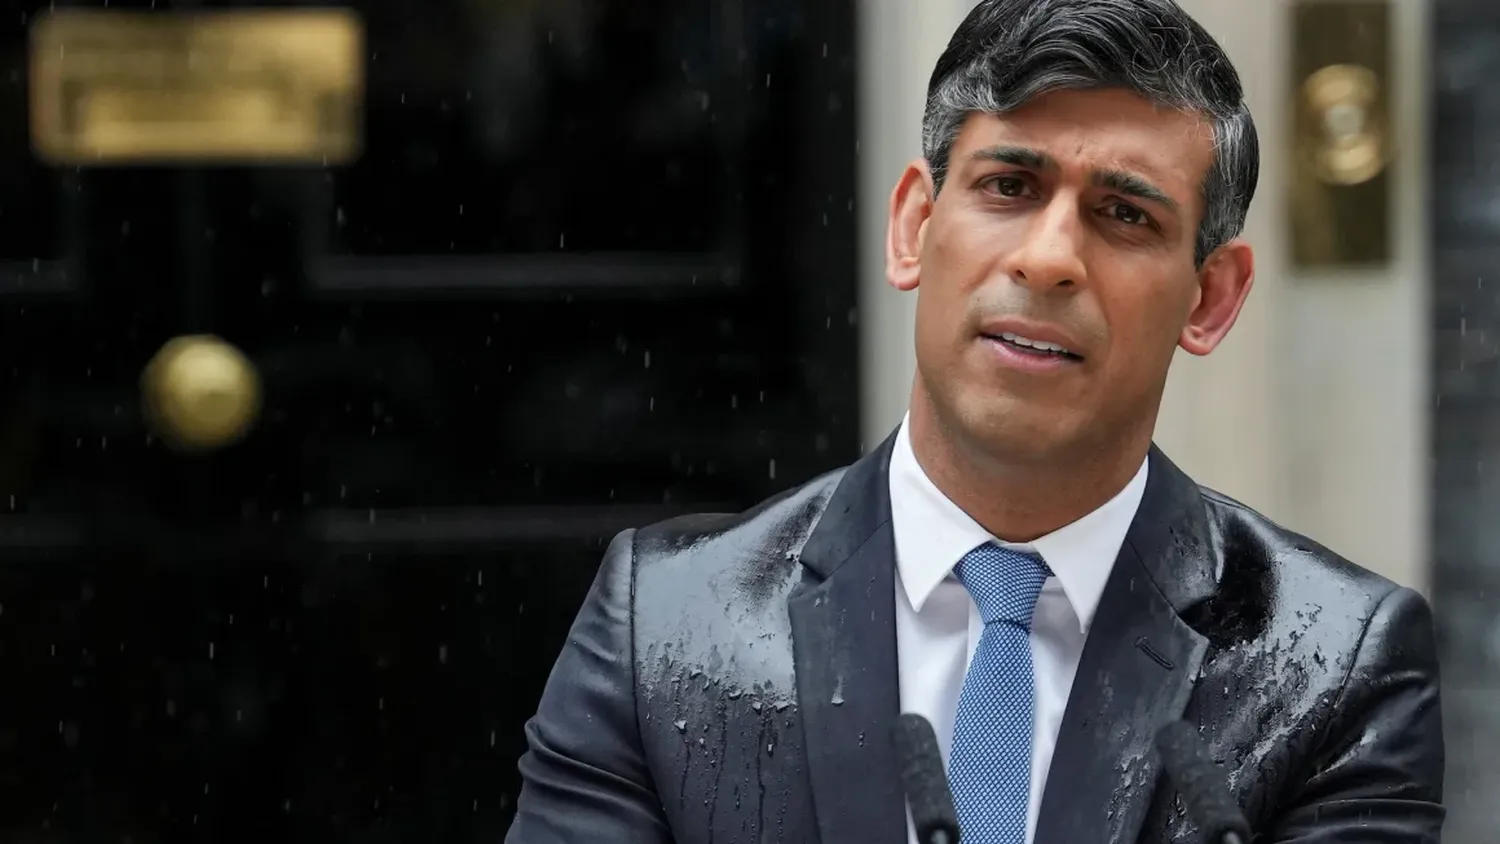
<instances>
[{"instance_id":1,"label":"man's face with furrowed brow, including both ears","mask_svg":"<svg viewBox=\"0 0 1500 844\"><path fill-rule=\"evenodd\" d=\"M1242 243L1194 265L1212 156L1198 115L1062 90L972 115L936 199L909 168L888 274L918 288L914 405L1006 460L1149 439L1173 351L1210 351L1250 289Z\"/></svg>"}]
</instances>

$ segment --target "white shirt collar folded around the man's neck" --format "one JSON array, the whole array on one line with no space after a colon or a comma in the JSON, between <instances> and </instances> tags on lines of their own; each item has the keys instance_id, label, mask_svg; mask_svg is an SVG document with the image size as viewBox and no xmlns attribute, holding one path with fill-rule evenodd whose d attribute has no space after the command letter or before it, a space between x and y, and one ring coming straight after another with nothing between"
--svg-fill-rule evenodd
<instances>
[{"instance_id":1,"label":"white shirt collar folded around the man's neck","mask_svg":"<svg viewBox=\"0 0 1500 844\"><path fill-rule=\"evenodd\" d=\"M1004 543L954 504L916 462L908 420L891 450L891 528L896 568L906 598L916 612L952 574L952 567L975 547L998 543L1041 555L1062 585L1078 625L1089 631L1140 499L1146 492L1149 460L1114 498L1088 516L1032 543Z\"/></svg>"}]
</instances>

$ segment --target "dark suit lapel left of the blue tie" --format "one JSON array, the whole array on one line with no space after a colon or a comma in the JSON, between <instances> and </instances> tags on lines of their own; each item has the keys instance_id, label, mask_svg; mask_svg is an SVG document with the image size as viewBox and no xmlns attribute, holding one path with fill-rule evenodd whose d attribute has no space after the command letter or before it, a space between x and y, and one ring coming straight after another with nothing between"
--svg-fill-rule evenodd
<instances>
[{"instance_id":1,"label":"dark suit lapel left of the blue tie","mask_svg":"<svg viewBox=\"0 0 1500 844\"><path fill-rule=\"evenodd\" d=\"M852 465L801 552L788 600L807 768L825 844L903 844L906 802L891 727L900 714L894 438Z\"/></svg>"}]
</instances>

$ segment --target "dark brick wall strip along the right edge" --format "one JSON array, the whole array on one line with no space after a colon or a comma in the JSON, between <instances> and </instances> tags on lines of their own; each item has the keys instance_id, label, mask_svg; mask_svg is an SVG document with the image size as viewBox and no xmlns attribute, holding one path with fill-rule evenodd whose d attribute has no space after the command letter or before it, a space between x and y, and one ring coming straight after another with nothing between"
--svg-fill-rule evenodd
<instances>
[{"instance_id":1,"label":"dark brick wall strip along the right edge","mask_svg":"<svg viewBox=\"0 0 1500 844\"><path fill-rule=\"evenodd\" d=\"M1432 15L1432 601L1443 661L1444 841L1500 829L1500 4Z\"/></svg>"}]
</instances>

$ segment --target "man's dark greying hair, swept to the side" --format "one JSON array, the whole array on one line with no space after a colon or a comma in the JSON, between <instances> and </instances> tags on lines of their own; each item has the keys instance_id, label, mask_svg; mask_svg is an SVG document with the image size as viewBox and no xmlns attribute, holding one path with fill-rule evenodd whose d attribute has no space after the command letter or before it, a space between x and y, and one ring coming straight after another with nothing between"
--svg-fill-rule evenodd
<instances>
[{"instance_id":1,"label":"man's dark greying hair, swept to the side","mask_svg":"<svg viewBox=\"0 0 1500 844\"><path fill-rule=\"evenodd\" d=\"M1004 114L1058 88L1126 88L1212 121L1194 259L1245 228L1260 142L1228 55L1173 0L981 0L927 85L922 154L942 187L964 120Z\"/></svg>"}]
</instances>

